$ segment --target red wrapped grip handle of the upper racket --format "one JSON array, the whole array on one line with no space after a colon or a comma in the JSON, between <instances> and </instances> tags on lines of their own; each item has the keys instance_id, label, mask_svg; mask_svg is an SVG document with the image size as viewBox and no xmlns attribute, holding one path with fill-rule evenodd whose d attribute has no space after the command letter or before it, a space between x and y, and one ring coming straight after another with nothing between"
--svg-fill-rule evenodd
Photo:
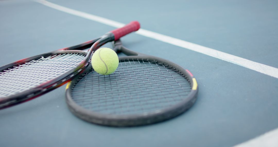
<instances>
[{"instance_id":1,"label":"red wrapped grip handle of the upper racket","mask_svg":"<svg viewBox=\"0 0 278 147\"><path fill-rule=\"evenodd\" d=\"M137 31L140 29L140 23L138 21L131 21L129 24L125 25L122 28L118 28L116 30L111 31L114 34L115 41L120 39L122 36L129 34L133 31Z\"/></svg>"}]
</instances>

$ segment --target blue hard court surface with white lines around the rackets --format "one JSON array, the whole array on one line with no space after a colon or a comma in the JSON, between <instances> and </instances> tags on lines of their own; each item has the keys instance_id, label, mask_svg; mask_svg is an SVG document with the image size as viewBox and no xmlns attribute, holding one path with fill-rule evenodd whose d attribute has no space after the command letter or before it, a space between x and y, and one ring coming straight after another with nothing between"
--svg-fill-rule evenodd
<instances>
[{"instance_id":1,"label":"blue hard court surface with white lines around the rackets","mask_svg":"<svg viewBox=\"0 0 278 147\"><path fill-rule=\"evenodd\" d=\"M123 37L123 44L187 68L199 90L180 116L116 128L75 117L64 85L1 110L2 147L278 146L277 0L2 0L0 20L0 65L137 20L141 29Z\"/></svg>"}]
</instances>

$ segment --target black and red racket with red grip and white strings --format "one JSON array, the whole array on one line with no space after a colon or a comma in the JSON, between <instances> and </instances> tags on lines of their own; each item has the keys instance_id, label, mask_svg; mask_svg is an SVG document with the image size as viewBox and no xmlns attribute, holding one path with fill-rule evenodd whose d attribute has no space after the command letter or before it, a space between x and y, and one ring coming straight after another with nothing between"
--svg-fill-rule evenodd
<instances>
[{"instance_id":1,"label":"black and red racket with red grip and white strings","mask_svg":"<svg viewBox=\"0 0 278 147\"><path fill-rule=\"evenodd\" d=\"M88 67L93 52L100 46L139 28L138 21L133 21L95 40L0 67L0 109L29 101L67 83ZM88 53L81 51L90 46Z\"/></svg>"}]
</instances>

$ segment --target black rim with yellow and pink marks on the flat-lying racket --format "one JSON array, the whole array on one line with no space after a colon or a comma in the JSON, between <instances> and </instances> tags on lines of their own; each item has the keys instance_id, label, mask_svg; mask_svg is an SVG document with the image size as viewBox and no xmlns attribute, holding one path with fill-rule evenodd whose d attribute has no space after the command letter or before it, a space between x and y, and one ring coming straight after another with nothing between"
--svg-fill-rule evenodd
<instances>
[{"instance_id":1,"label":"black rim with yellow and pink marks on the flat-lying racket","mask_svg":"<svg viewBox=\"0 0 278 147\"><path fill-rule=\"evenodd\" d=\"M115 114L103 114L98 112L93 112L88 109L83 108L82 106L76 104L76 102L73 100L73 97L71 96L71 92L73 89L73 86L77 83L77 80L79 77L74 78L71 82L68 83L66 86L66 102L69 107L69 110L77 117L88 121L90 123L105 125L105 126L116 126L116 127L125 127L125 126L141 126L141 125L147 125L147 124L153 124L158 123L170 118L173 118L175 116L178 116L179 114L182 114L187 109L189 109L193 104L195 103L197 99L197 92L198 92L198 86L197 81L193 77L192 73L181 67L180 65L177 65L171 61L153 57L153 56L126 56L126 57L120 57L119 60L125 61L127 59L140 59L140 60L156 60L160 63L167 64L169 67L174 67L179 72L183 73L185 77L187 77L188 81L191 85L191 91L187 95L187 97L168 108L161 109L159 112L147 112L144 114L131 114L131 115L115 115ZM86 71L90 71L91 66L89 66ZM86 71L84 71L82 74L84 74Z\"/></svg>"}]
</instances>

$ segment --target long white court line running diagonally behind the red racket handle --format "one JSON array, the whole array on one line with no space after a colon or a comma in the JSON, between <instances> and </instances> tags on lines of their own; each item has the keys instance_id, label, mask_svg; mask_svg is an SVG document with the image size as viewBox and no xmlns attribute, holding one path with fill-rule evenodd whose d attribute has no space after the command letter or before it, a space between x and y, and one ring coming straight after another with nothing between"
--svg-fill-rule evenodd
<instances>
[{"instance_id":1,"label":"long white court line running diagonally behind the red racket handle","mask_svg":"<svg viewBox=\"0 0 278 147\"><path fill-rule=\"evenodd\" d=\"M120 27L123 27L125 25L123 23L119 23L119 22L116 22L116 21L113 21L113 20L110 20L110 19L100 17L100 16L95 16L95 15L92 15L92 14L89 14L89 13L77 11L77 10L70 9L70 8L66 8L66 7L63 7L63 6L54 4L54 3L50 3L50 2L45 1L45 0L35 0L35 1L38 2L38 3L44 4L45 6L56 9L56 10L63 11L65 13L69 13L69 14L79 16L79 17L82 17L82 18L90 19L90 20L93 20L93 21L97 21L99 23L103 23L105 25L113 26L113 27L116 27L116 28L120 28ZM221 59L221 60L224 60L224 61L227 61L227 62L231 62L231 63L234 63L236 65L240 65L242 67L246 67L246 68L255 70L257 72L264 73L266 75L270 75L272 77L278 78L278 68L275 68L275 67L271 67L271 66L268 66L268 65L257 63L257 62L251 61L251 60L247 60L245 58L237 57L237 56L234 56L234 55L231 55L231 54L228 54L228 53L224 53L224 52L221 52L221 51L218 51L218 50L214 50L212 48L208 48L208 47L205 47L205 46L202 46L202 45L197 45L195 43L187 42L187 41L184 41L184 40L180 40L180 39L177 39L177 38L173 38L173 37L170 37L170 36L162 35L162 34L155 33L155 32L148 31L148 30L144 30L144 29L140 29L140 30L136 31L136 33L140 34L142 36L153 38L155 40L163 41L163 42L166 42L166 43L169 43L169 44L172 44L172 45L180 46L182 48L186 48L186 49L189 49L189 50L193 50L195 52L199 52L199 53L202 53L202 54L205 54L205 55L209 55L211 57L218 58L218 59Z\"/></svg>"}]
</instances>

